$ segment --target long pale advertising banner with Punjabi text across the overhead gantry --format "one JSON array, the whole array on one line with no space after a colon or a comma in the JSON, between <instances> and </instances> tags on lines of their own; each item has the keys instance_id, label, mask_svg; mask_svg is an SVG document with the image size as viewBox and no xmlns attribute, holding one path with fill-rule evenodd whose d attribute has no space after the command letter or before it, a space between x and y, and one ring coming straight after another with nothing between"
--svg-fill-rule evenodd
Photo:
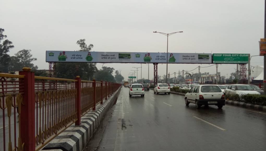
<instances>
[{"instance_id":1,"label":"long pale advertising banner with Punjabi text across the overhead gantry","mask_svg":"<svg viewBox=\"0 0 266 151\"><path fill-rule=\"evenodd\" d=\"M166 53L46 51L46 62L166 63ZM168 63L210 64L210 53L168 53Z\"/></svg>"}]
</instances>

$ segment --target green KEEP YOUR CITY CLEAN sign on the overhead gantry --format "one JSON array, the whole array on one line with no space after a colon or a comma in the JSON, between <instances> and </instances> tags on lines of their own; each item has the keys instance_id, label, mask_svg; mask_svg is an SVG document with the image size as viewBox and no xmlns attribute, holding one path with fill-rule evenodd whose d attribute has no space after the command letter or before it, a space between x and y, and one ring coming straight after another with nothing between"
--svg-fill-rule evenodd
<instances>
[{"instance_id":1,"label":"green KEEP YOUR CITY CLEAN sign on the overhead gantry","mask_svg":"<svg viewBox=\"0 0 266 151\"><path fill-rule=\"evenodd\" d=\"M249 54L214 53L213 63L222 64L247 64Z\"/></svg>"}]
</instances>

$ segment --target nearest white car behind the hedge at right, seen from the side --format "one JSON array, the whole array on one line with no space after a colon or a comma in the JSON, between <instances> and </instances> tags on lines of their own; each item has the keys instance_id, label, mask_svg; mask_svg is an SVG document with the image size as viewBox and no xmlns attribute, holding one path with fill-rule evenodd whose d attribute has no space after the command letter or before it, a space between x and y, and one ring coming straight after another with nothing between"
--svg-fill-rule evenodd
<instances>
[{"instance_id":1,"label":"nearest white car behind the hedge at right, seen from the side","mask_svg":"<svg viewBox=\"0 0 266 151\"><path fill-rule=\"evenodd\" d=\"M246 95L246 94L260 94L256 90L254 90L250 85L241 85L241 84L235 84L235 85L228 85L225 89L226 95Z\"/></svg>"}]
</instances>

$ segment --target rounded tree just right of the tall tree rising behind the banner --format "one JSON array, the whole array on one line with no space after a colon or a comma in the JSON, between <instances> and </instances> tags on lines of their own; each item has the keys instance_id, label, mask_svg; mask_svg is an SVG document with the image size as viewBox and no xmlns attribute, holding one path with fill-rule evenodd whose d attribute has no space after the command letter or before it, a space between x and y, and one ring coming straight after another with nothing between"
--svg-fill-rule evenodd
<instances>
[{"instance_id":1,"label":"rounded tree just right of the tall tree rising behind the banner","mask_svg":"<svg viewBox=\"0 0 266 151\"><path fill-rule=\"evenodd\" d=\"M98 72L95 73L95 80L96 81L109 81L115 82L115 78L112 75L114 68L103 66Z\"/></svg>"}]
</instances>

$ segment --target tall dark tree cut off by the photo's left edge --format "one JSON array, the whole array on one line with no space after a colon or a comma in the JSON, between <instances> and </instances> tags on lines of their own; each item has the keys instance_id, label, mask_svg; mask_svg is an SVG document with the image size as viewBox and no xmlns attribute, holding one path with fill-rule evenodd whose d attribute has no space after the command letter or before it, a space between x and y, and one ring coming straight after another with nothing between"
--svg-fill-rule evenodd
<instances>
[{"instance_id":1,"label":"tall dark tree cut off by the photo's left edge","mask_svg":"<svg viewBox=\"0 0 266 151\"><path fill-rule=\"evenodd\" d=\"M0 28L0 72L8 72L10 56L7 53L11 48L14 48L11 41L4 40L7 37L3 35L4 31L4 29ZM4 40L3 43L1 43L2 40Z\"/></svg>"}]
</instances>

